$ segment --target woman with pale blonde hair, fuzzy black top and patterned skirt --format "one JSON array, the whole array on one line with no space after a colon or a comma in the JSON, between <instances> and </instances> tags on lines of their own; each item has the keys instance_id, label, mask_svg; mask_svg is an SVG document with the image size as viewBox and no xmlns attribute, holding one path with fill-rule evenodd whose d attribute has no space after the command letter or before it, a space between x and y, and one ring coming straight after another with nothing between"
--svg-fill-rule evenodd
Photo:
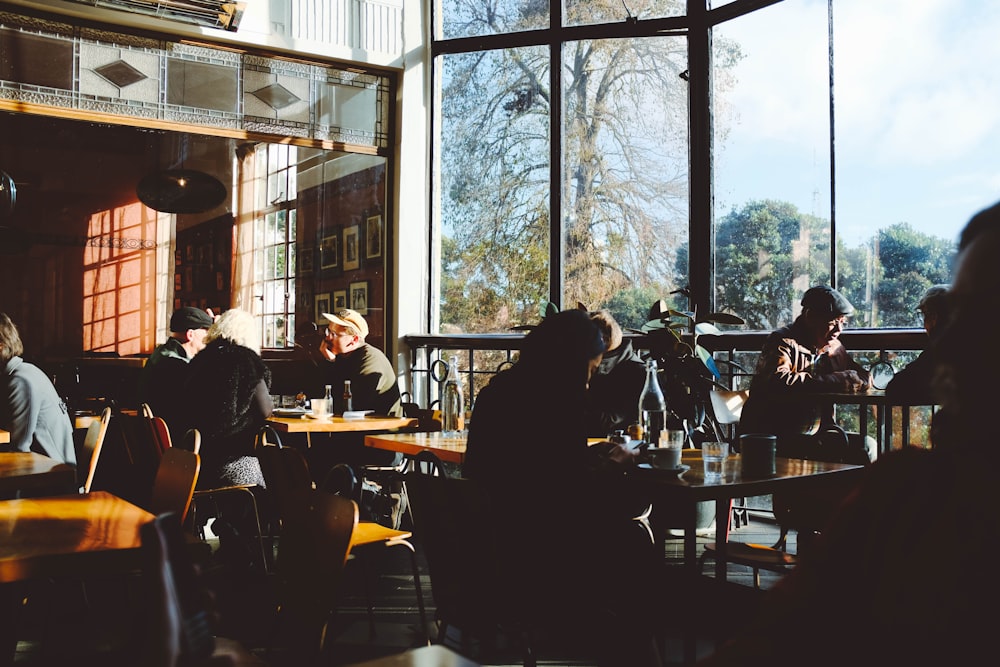
<instances>
[{"instance_id":1,"label":"woman with pale blonde hair, fuzzy black top and patterned skirt","mask_svg":"<svg viewBox=\"0 0 1000 667\"><path fill-rule=\"evenodd\" d=\"M209 327L205 349L189 366L184 429L201 432L198 488L263 489L254 444L274 405L271 371L260 357L260 325L245 310L225 311ZM242 568L252 561L250 536L257 530L256 518L245 499L224 494L216 498L219 516L212 531L219 536L227 561ZM258 495L259 505L266 505L263 500L263 494Z\"/></svg>"}]
</instances>

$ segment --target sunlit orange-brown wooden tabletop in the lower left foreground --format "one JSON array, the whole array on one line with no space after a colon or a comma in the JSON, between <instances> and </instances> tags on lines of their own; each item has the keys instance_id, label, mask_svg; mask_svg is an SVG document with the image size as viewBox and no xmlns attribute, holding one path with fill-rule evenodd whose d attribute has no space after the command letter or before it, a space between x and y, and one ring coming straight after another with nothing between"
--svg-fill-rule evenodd
<instances>
[{"instance_id":1,"label":"sunlit orange-brown wooden tabletop in the lower left foreground","mask_svg":"<svg viewBox=\"0 0 1000 667\"><path fill-rule=\"evenodd\" d=\"M0 501L0 583L137 569L153 518L104 491Z\"/></svg>"}]
</instances>

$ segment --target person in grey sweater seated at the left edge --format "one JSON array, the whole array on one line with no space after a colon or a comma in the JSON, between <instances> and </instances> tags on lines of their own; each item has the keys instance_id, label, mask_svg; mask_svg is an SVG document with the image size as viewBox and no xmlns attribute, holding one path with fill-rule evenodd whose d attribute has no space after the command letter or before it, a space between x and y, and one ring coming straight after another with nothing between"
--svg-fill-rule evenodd
<instances>
[{"instance_id":1,"label":"person in grey sweater seated at the left edge","mask_svg":"<svg viewBox=\"0 0 1000 667\"><path fill-rule=\"evenodd\" d=\"M10 431L7 451L36 452L76 465L73 422L49 377L26 362L17 325L0 313L0 428Z\"/></svg>"}]
</instances>

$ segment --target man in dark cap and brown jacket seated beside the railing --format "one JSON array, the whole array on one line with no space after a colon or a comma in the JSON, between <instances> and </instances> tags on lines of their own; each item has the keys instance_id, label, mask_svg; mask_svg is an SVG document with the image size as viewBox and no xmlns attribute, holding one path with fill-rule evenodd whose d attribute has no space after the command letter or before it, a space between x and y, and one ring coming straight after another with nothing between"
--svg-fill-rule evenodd
<instances>
[{"instance_id":1,"label":"man in dark cap and brown jacket seated beside the railing","mask_svg":"<svg viewBox=\"0 0 1000 667\"><path fill-rule=\"evenodd\" d=\"M848 354L839 336L854 306L827 285L806 290L802 313L764 341L739 432L778 436L778 455L869 463L877 445L867 435L847 433L834 420L832 403L790 400L815 392L865 392L871 377Z\"/></svg>"}]
</instances>

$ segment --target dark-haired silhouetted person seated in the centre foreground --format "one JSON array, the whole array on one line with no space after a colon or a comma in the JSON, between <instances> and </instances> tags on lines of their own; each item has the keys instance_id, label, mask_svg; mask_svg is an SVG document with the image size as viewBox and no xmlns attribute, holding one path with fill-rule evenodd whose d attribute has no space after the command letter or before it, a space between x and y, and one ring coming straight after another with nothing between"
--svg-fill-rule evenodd
<instances>
[{"instance_id":1,"label":"dark-haired silhouetted person seated in the centre foreground","mask_svg":"<svg viewBox=\"0 0 1000 667\"><path fill-rule=\"evenodd\" d=\"M595 647L601 664L658 665L653 637L670 607L663 554L633 521L648 500L622 474L638 454L587 446L587 382L604 350L586 312L546 317L517 362L479 392L462 474L495 501L483 523L516 573L502 588L534 614L532 625L566 621L605 640Z\"/></svg>"}]
</instances>

